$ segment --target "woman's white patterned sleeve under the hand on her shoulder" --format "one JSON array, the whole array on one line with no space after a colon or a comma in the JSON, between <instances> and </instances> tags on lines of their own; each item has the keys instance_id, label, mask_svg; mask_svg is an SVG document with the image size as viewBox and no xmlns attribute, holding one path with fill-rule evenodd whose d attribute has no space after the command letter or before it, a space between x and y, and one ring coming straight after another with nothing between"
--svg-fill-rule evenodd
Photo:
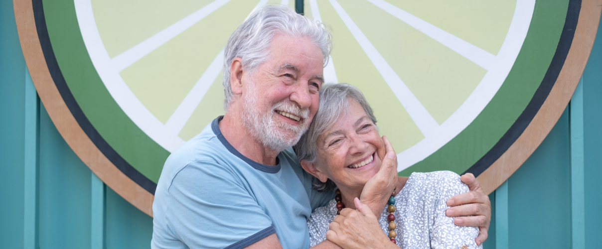
<instances>
[{"instance_id":1,"label":"woman's white patterned sleeve under the hand on her shoulder","mask_svg":"<svg viewBox=\"0 0 602 249\"><path fill-rule=\"evenodd\" d=\"M479 236L477 227L461 227L453 224L453 217L447 217L445 210L448 209L446 202L454 195L468 192L468 186L462 183L460 176L451 171L438 171L430 173L436 177L438 182L436 200L435 224L430 232L431 248L483 248L478 246L474 239Z\"/></svg>"}]
</instances>

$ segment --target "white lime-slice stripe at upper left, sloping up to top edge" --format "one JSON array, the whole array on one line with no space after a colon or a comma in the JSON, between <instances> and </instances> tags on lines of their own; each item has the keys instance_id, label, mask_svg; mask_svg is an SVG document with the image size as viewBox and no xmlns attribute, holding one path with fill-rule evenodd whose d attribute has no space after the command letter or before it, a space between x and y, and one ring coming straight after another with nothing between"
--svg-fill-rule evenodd
<instances>
[{"instance_id":1,"label":"white lime-slice stripe at upper left, sloping up to top edge","mask_svg":"<svg viewBox=\"0 0 602 249\"><path fill-rule=\"evenodd\" d=\"M222 7L224 4L228 3L230 0L216 0L206 5L200 10L194 11L194 13L184 17L184 19L179 20L176 23L173 23L171 26L163 29L157 34L147 38L146 40L138 43L136 46L128 49L120 55L117 55L115 58L111 60L111 64L114 67L116 72L121 72L123 69L134 64L136 61L150 54L155 49L159 48L161 45L167 43L167 41L172 40L173 37L184 32L186 29L190 28L195 23L199 22L209 14L216 11L218 8Z\"/></svg>"}]
</instances>

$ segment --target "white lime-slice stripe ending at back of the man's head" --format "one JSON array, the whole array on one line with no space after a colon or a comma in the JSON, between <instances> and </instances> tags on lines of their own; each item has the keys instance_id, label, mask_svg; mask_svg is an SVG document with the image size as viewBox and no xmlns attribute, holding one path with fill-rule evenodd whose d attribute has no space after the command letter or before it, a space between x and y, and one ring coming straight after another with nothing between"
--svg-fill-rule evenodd
<instances>
[{"instance_id":1,"label":"white lime-slice stripe ending at back of the man's head","mask_svg":"<svg viewBox=\"0 0 602 249\"><path fill-rule=\"evenodd\" d=\"M169 117L165 126L167 130L172 132L174 135L178 135L184 125L186 125L188 119L193 114L194 109L199 105L200 100L203 99L211 84L216 81L219 76L220 70L222 70L224 60L224 50L220 51L213 62L209 64L209 67L205 70L199 81L194 84L194 87L188 92L184 100L180 103L176 111L173 112L172 116Z\"/></svg>"}]
</instances>

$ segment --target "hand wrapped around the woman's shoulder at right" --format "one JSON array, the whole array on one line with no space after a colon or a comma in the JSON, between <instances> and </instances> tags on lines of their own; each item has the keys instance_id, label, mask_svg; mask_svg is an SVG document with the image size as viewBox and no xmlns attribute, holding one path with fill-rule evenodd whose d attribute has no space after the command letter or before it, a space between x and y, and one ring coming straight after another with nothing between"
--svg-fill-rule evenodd
<instances>
[{"instance_id":1,"label":"hand wrapped around the woman's shoulder at right","mask_svg":"<svg viewBox=\"0 0 602 249\"><path fill-rule=\"evenodd\" d=\"M480 245L487 240L491 221L491 201L473 174L466 173L460 179L468 185L470 192L455 195L447 200L447 206L451 207L445 211L445 215L458 217L454 219L454 224L458 226L479 227L479 236L474 239L474 242Z\"/></svg>"}]
</instances>

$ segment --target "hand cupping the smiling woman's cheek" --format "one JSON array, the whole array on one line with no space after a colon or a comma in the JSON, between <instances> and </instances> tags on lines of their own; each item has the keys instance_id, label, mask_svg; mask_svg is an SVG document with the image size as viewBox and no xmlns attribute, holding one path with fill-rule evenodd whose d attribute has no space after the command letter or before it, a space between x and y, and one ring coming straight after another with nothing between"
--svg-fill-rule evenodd
<instances>
[{"instance_id":1,"label":"hand cupping the smiling woman's cheek","mask_svg":"<svg viewBox=\"0 0 602 249\"><path fill-rule=\"evenodd\" d=\"M382 212L397 183L397 155L385 136L382 136L382 141L385 143L386 155L382 159L380 170L366 182L359 196L362 203L370 207L373 214Z\"/></svg>"}]
</instances>

